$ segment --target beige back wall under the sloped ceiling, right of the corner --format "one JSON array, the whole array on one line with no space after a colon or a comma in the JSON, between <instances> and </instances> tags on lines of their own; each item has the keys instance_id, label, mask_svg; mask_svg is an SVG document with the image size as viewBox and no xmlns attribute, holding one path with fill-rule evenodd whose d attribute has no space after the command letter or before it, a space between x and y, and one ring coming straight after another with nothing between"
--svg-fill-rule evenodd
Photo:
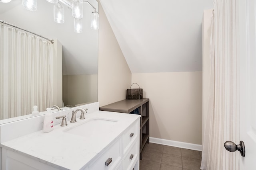
<instances>
[{"instance_id":1,"label":"beige back wall under the sloped ceiling, right of the corner","mask_svg":"<svg viewBox=\"0 0 256 170\"><path fill-rule=\"evenodd\" d=\"M150 137L202 144L202 72L132 74L150 99Z\"/></svg>"}]
</instances>

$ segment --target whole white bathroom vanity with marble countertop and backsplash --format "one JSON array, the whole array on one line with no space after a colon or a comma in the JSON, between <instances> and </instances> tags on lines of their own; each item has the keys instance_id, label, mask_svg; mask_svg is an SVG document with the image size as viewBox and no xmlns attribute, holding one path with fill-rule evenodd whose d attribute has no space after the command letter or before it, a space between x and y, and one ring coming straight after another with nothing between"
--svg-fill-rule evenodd
<instances>
[{"instance_id":1,"label":"whole white bathroom vanity with marble countertop and backsplash","mask_svg":"<svg viewBox=\"0 0 256 170\"><path fill-rule=\"evenodd\" d=\"M99 111L93 105L98 103L78 107L89 113L80 120L78 111L76 123L69 121L77 108L52 113L66 115L68 126L56 119L49 133L32 123L41 125L44 115L0 125L2 170L139 170L140 115Z\"/></svg>"}]
</instances>

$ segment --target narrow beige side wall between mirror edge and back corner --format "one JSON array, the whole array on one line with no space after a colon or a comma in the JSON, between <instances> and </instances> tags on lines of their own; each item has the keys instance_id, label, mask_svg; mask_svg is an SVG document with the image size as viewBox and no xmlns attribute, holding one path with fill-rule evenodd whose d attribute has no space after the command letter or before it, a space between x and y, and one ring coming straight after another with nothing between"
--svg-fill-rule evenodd
<instances>
[{"instance_id":1,"label":"narrow beige side wall between mirror edge and back corner","mask_svg":"<svg viewBox=\"0 0 256 170\"><path fill-rule=\"evenodd\" d=\"M104 106L126 98L132 74L99 2L98 102Z\"/></svg>"}]
</instances>

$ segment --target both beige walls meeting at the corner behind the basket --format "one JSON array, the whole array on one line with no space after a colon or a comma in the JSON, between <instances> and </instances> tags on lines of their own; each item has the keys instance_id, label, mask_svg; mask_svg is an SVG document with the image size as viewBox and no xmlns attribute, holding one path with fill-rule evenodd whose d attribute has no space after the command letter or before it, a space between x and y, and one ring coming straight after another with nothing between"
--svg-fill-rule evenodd
<instances>
[{"instance_id":1,"label":"both beige walls meeting at the corner behind the basket","mask_svg":"<svg viewBox=\"0 0 256 170\"><path fill-rule=\"evenodd\" d=\"M125 99L132 82L150 98L150 137L202 144L202 72L131 74L99 3L98 102Z\"/></svg>"}]
</instances>

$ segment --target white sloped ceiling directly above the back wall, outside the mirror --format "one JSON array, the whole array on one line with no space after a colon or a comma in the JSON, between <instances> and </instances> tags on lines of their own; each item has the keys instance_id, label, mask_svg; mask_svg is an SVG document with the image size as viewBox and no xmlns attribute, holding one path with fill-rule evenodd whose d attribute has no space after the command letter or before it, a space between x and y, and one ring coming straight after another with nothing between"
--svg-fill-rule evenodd
<instances>
[{"instance_id":1,"label":"white sloped ceiling directly above the back wall, outside the mirror","mask_svg":"<svg viewBox=\"0 0 256 170\"><path fill-rule=\"evenodd\" d=\"M100 0L132 73L202 70L212 0Z\"/></svg>"}]
</instances>

